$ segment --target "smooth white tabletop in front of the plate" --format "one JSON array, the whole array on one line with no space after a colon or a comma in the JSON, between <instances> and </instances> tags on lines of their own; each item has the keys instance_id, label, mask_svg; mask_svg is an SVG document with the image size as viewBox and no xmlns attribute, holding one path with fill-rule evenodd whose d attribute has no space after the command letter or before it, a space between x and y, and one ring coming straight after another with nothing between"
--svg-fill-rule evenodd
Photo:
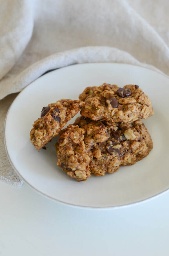
<instances>
[{"instance_id":1,"label":"smooth white tabletop in front of the plate","mask_svg":"<svg viewBox=\"0 0 169 256\"><path fill-rule=\"evenodd\" d=\"M0 255L169 255L169 191L139 204L88 210L0 182Z\"/></svg>"}]
</instances>

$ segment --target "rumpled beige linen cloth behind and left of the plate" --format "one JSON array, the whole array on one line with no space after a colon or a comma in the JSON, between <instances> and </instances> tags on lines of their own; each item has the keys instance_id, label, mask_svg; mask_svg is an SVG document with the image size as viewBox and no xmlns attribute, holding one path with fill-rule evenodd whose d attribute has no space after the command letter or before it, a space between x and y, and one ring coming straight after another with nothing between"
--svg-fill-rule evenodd
<instances>
[{"instance_id":1,"label":"rumpled beige linen cloth behind and left of the plate","mask_svg":"<svg viewBox=\"0 0 169 256\"><path fill-rule=\"evenodd\" d=\"M168 12L168 0L1 1L1 181L22 185L3 141L12 93L48 70L85 62L129 63L169 75Z\"/></svg>"}]
</instances>

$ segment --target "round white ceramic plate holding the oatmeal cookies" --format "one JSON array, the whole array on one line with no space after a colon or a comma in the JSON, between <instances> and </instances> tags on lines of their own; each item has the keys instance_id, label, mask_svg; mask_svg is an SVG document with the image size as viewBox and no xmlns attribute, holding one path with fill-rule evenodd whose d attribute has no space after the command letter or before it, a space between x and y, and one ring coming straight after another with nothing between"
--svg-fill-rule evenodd
<instances>
[{"instance_id":1,"label":"round white ceramic plate holding the oatmeal cookies","mask_svg":"<svg viewBox=\"0 0 169 256\"><path fill-rule=\"evenodd\" d=\"M55 137L47 150L36 150L30 129L43 106L62 98L78 99L86 86L138 84L152 100L155 115L144 120L154 147L133 166L104 177L77 182L56 164ZM12 103L5 123L9 160L32 188L56 201L82 207L114 207L155 196L169 188L169 79L152 70L116 63L77 64L38 78ZM76 116L77 117L77 116ZM76 118L75 117L75 118ZM73 123L75 118L69 123Z\"/></svg>"}]
</instances>

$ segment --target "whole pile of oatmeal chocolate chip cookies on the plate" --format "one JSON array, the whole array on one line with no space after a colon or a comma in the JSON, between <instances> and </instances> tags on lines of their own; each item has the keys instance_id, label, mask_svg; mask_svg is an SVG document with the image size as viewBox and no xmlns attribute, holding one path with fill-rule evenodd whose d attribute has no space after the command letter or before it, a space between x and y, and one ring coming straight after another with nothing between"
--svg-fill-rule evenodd
<instances>
[{"instance_id":1,"label":"whole pile of oatmeal chocolate chip cookies on the plate","mask_svg":"<svg viewBox=\"0 0 169 256\"><path fill-rule=\"evenodd\" d=\"M57 165L70 177L86 181L91 173L104 176L149 154L153 142L141 118L154 110L138 85L87 87L79 99L44 107L30 132L36 149L60 132ZM61 131L80 109L81 117Z\"/></svg>"}]
</instances>

